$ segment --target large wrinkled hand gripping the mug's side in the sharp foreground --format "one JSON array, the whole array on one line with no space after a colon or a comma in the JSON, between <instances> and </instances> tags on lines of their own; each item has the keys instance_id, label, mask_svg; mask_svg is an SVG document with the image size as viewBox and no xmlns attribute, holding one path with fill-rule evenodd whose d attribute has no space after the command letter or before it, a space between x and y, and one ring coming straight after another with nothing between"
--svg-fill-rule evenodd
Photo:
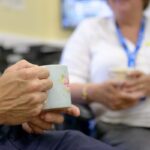
<instances>
[{"instance_id":1,"label":"large wrinkled hand gripping the mug's side in the sharp foreground","mask_svg":"<svg viewBox=\"0 0 150 150\"><path fill-rule=\"evenodd\" d=\"M21 124L39 115L52 87L49 73L23 60L0 77L0 123Z\"/></svg>"}]
</instances>

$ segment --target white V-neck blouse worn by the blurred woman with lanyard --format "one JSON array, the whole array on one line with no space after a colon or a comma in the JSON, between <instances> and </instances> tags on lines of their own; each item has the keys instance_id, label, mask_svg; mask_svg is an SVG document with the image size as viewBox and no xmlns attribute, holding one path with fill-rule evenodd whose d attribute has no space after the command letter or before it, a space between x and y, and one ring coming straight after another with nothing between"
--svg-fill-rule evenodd
<instances>
[{"instance_id":1,"label":"white V-neck blouse worn by the blurred woman with lanyard","mask_svg":"<svg viewBox=\"0 0 150 150\"><path fill-rule=\"evenodd\" d=\"M126 39L129 49L135 44ZM70 82L103 83L112 68L127 68L128 58L116 34L113 17L83 21L69 39L61 63L69 68ZM136 69L150 73L150 19L146 18L144 40L136 59ZM110 123L150 127L150 98L121 111L106 110L98 119Z\"/></svg>"}]
</instances>

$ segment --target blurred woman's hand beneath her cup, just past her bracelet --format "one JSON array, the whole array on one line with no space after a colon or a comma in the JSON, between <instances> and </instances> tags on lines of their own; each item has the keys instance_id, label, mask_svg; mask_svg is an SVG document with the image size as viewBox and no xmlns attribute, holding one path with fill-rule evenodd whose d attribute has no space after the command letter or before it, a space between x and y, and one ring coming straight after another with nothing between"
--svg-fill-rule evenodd
<instances>
[{"instance_id":1,"label":"blurred woman's hand beneath her cup, just past her bracelet","mask_svg":"<svg viewBox=\"0 0 150 150\"><path fill-rule=\"evenodd\" d=\"M139 93L127 93L122 90L122 84L105 82L92 84L88 88L90 101L99 102L111 110L122 110L135 106L139 102Z\"/></svg>"}]
</instances>

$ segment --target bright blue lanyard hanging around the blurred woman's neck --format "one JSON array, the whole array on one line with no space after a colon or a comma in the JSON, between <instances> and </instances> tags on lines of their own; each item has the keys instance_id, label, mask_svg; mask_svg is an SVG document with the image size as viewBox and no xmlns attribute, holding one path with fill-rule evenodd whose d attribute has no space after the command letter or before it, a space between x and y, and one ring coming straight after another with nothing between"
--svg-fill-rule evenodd
<instances>
[{"instance_id":1,"label":"bright blue lanyard hanging around the blurred woman's neck","mask_svg":"<svg viewBox=\"0 0 150 150\"><path fill-rule=\"evenodd\" d=\"M123 34L121 33L121 30L120 30L120 28L117 24L116 24L116 30L117 30L117 35L118 35L119 42L120 42L121 46L123 47L124 51L127 54L128 67L129 68L134 68L135 65L136 65L137 54L138 54L138 52L141 48L141 45L142 45L142 42L143 42L143 39L144 39L145 18L143 18L142 21L141 21L141 27L140 27L139 34L138 34L138 40L136 42L136 47L135 47L133 52L129 50L129 48L126 44L125 38L124 38Z\"/></svg>"}]
</instances>

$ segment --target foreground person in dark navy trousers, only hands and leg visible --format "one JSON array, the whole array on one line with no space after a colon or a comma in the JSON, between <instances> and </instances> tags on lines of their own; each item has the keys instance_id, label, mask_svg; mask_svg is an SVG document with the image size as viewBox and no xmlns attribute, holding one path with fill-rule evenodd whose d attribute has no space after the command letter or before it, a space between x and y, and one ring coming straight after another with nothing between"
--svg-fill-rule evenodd
<instances>
[{"instance_id":1,"label":"foreground person in dark navy trousers, only hands and leg visible","mask_svg":"<svg viewBox=\"0 0 150 150\"><path fill-rule=\"evenodd\" d=\"M79 132L50 131L62 123L61 113L80 114L77 107L43 112L47 90L52 87L48 70L20 61L0 77L0 150L113 150Z\"/></svg>"}]
</instances>

